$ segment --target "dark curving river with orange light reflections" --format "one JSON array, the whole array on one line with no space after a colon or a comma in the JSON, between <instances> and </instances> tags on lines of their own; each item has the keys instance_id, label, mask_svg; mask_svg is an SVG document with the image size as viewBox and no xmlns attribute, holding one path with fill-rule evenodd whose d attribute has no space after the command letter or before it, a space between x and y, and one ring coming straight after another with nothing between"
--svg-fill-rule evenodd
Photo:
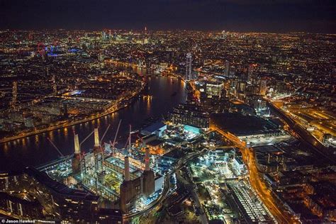
<instances>
[{"instance_id":1,"label":"dark curving river with orange light reflections","mask_svg":"<svg viewBox=\"0 0 336 224\"><path fill-rule=\"evenodd\" d=\"M145 74L146 71L138 69L135 72ZM122 121L118 136L122 138L128 134L129 125L132 125L133 130L138 130L148 119L162 118L179 103L185 102L186 89L181 80L161 76L146 79L149 87L148 94L152 98L139 97L128 107L94 121L2 143L0 145L0 172L38 166L60 157L47 138L54 142L63 155L71 155L74 152L74 132L79 134L79 141L82 141L94 130L94 127L99 126L99 134L103 135L108 125L111 125L103 142L113 141L120 119ZM92 135L83 143L82 151L87 152L93 145Z\"/></svg>"}]
</instances>

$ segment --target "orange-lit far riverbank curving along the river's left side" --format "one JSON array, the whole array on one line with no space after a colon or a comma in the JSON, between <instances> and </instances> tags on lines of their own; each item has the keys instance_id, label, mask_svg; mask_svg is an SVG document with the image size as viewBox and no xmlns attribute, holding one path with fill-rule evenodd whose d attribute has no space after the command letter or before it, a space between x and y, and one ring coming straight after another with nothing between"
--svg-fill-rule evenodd
<instances>
[{"instance_id":1,"label":"orange-lit far riverbank curving along the river's left side","mask_svg":"<svg viewBox=\"0 0 336 224\"><path fill-rule=\"evenodd\" d=\"M40 133L46 133L46 132L51 131L51 130L57 130L57 129L60 129L60 128L71 127L73 125L78 125L80 123L93 121L97 118L107 116L108 114L111 114L111 113L116 113L117 111L121 110L122 108L127 107L130 104L130 102L133 99L135 99L135 97L140 95L140 93L144 90L144 88L145 88L145 84L142 84L141 88L138 91L131 94L126 99L119 99L115 104L113 104L112 106L107 108L106 111L103 111L102 113L94 113L89 118L83 118L83 119L80 119L78 121L65 121L65 123L62 123L62 124L59 124L59 125L50 125L47 128L40 128L38 130L33 130L33 131L26 132L26 133L22 132L18 135L1 138L0 139L0 144L5 143L5 142L10 142L10 141L13 141L13 140L18 140L18 139L21 139L21 138L26 138L26 137L29 137L31 135L38 135ZM128 101L128 103L124 104L123 102L125 102L125 101Z\"/></svg>"}]
</instances>

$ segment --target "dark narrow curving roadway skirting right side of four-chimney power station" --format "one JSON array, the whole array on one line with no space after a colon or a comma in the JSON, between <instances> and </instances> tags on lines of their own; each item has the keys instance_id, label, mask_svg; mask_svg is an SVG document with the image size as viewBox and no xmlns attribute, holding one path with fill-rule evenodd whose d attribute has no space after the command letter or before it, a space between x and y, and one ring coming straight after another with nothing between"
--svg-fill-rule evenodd
<instances>
[{"instance_id":1,"label":"dark narrow curving roadway skirting right side of four-chimney power station","mask_svg":"<svg viewBox=\"0 0 336 224\"><path fill-rule=\"evenodd\" d=\"M194 152L192 154L186 155L183 159L179 160L179 162L175 165L174 169L172 169L170 172L168 172L165 175L165 177L164 177L164 187L163 187L163 190L162 190L162 194L160 194L159 198L157 198L157 200L155 200L155 201L152 201L152 203L150 203L147 206L147 208L143 209L142 211L137 211L135 213L126 213L126 214L123 215L123 218L128 219L128 218L133 218L133 217L138 216L138 215L142 215L144 213L147 213L147 212L151 211L152 208L155 208L155 206L159 205L159 203L162 203L162 201L167 197L167 194L169 192L169 189L170 189L169 179L170 179L170 177L172 177L172 174L174 174L179 169L184 167L186 165L186 163L189 162L191 159L194 159L194 158L204 154L205 152L206 152L206 150L202 150L201 152Z\"/></svg>"}]
</instances>

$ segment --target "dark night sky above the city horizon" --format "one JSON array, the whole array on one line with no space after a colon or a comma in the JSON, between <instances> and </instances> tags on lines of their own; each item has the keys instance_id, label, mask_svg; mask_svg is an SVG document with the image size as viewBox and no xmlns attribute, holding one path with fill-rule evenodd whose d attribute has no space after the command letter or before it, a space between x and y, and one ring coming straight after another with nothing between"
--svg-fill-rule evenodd
<instances>
[{"instance_id":1,"label":"dark night sky above the city horizon","mask_svg":"<svg viewBox=\"0 0 336 224\"><path fill-rule=\"evenodd\" d=\"M0 0L0 28L335 33L336 0Z\"/></svg>"}]
</instances>

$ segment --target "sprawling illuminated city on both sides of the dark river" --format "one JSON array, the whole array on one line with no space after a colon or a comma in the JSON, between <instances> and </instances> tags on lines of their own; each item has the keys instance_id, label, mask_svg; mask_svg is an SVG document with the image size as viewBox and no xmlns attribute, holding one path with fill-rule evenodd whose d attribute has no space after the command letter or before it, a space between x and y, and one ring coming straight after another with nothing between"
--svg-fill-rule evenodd
<instances>
[{"instance_id":1,"label":"sprawling illuminated city on both sides of the dark river","mask_svg":"<svg viewBox=\"0 0 336 224\"><path fill-rule=\"evenodd\" d=\"M120 119L67 132L70 155L48 138L45 153L60 157L0 170L0 218L336 222L335 53L327 34L1 30L4 152L138 101L153 106L150 79L186 96L162 92L177 106L141 128Z\"/></svg>"}]
</instances>

